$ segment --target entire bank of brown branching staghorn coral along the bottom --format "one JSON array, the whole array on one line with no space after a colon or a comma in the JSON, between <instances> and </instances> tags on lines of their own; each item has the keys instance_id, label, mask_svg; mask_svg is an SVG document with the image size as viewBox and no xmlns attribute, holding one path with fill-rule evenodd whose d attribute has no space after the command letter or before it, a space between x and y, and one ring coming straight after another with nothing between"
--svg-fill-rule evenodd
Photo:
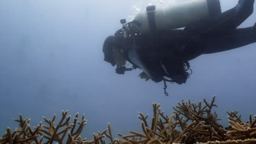
<instances>
[{"instance_id":1,"label":"entire bank of brown branching staghorn coral along the bottom","mask_svg":"<svg viewBox=\"0 0 256 144\"><path fill-rule=\"evenodd\" d=\"M62 111L62 118L54 126L55 115L52 119L44 118L44 122L39 123L33 129L30 127L30 119L14 119L19 122L20 129L16 128L12 133L10 128L0 138L0 143L88 143L88 144L106 144L104 137L109 139L109 144L171 144L171 143L200 143L200 144L253 144L256 143L256 115L254 118L249 115L249 120L245 123L241 115L237 116L238 111L227 112L229 127L224 128L218 123L216 111L212 113L215 97L211 103L205 99L199 103L182 100L171 116L164 115L160 104L153 103L153 118L148 122L148 115L139 112L138 118L142 120L141 127L143 133L130 131L130 135L118 135L121 139L114 139L110 124L102 133L94 135L94 140L86 141L82 139L80 133L86 124L83 115L78 122L78 114L75 115L72 124L69 124L71 116L67 116L67 111ZM77 129L75 129L77 127ZM65 140L66 136L66 140ZM64 142L65 140L65 142Z\"/></svg>"}]
</instances>

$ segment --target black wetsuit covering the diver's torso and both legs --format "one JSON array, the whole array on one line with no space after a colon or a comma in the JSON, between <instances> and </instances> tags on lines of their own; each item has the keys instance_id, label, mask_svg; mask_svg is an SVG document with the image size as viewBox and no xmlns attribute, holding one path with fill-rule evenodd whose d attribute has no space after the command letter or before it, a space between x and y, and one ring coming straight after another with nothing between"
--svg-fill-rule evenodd
<instances>
[{"instance_id":1,"label":"black wetsuit covering the diver's torso and both legs","mask_svg":"<svg viewBox=\"0 0 256 144\"><path fill-rule=\"evenodd\" d=\"M185 62L202 54L256 42L255 28L237 28L253 13L253 4L254 0L241 0L235 8L216 17L199 20L184 29L158 32L154 37L141 35L136 40L138 53L150 70L166 75L160 64L164 63L172 79L179 84L185 83Z\"/></svg>"}]
</instances>

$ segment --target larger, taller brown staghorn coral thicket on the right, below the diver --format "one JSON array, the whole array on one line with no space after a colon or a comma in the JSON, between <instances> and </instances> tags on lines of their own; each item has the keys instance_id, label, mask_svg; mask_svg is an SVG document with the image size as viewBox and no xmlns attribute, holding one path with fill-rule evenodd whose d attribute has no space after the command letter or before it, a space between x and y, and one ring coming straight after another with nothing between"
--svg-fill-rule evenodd
<instances>
[{"instance_id":1,"label":"larger, taller brown staghorn coral thicket on the right, below the diver","mask_svg":"<svg viewBox=\"0 0 256 144\"><path fill-rule=\"evenodd\" d=\"M223 125L218 123L217 113L212 113L215 97L211 103L205 99L199 103L182 100L177 106L173 115L168 117L161 112L160 104L153 104L154 115L152 118L151 128L145 117L139 113L142 120L142 130L144 134L138 134L130 131L133 135L123 136L126 141L131 143L245 143L255 142L256 133L256 116L252 119L250 115L246 123L242 122L241 116L237 116L237 111L228 112L229 129L225 130ZM127 139L130 137L130 139ZM138 137L142 137L138 139ZM248 140L250 139L250 140ZM229 140L229 141L228 141Z\"/></svg>"}]
</instances>

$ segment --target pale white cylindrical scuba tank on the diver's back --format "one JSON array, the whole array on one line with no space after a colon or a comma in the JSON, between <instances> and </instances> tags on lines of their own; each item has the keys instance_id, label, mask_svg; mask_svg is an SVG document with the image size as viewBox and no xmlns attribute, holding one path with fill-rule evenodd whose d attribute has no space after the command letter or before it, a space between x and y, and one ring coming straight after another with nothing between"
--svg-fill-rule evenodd
<instances>
[{"instance_id":1,"label":"pale white cylindrical scuba tank on the diver's back","mask_svg":"<svg viewBox=\"0 0 256 144\"><path fill-rule=\"evenodd\" d=\"M165 31L188 26L199 19L214 17L221 13L219 0L192 0L167 7L156 6L154 22L156 31ZM147 11L137 14L134 19L139 25L136 29L141 33L150 32Z\"/></svg>"}]
</instances>

